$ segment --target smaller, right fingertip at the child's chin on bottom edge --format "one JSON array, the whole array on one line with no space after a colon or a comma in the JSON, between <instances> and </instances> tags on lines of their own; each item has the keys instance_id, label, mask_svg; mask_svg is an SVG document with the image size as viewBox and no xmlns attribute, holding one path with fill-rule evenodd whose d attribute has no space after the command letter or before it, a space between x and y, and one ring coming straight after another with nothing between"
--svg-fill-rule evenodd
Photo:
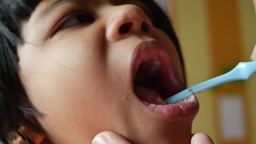
<instances>
[{"instance_id":1,"label":"smaller, right fingertip at the child's chin on bottom edge","mask_svg":"<svg viewBox=\"0 0 256 144\"><path fill-rule=\"evenodd\" d=\"M214 144L211 137L205 133L197 133L193 135L191 144Z\"/></svg>"}]
</instances>

